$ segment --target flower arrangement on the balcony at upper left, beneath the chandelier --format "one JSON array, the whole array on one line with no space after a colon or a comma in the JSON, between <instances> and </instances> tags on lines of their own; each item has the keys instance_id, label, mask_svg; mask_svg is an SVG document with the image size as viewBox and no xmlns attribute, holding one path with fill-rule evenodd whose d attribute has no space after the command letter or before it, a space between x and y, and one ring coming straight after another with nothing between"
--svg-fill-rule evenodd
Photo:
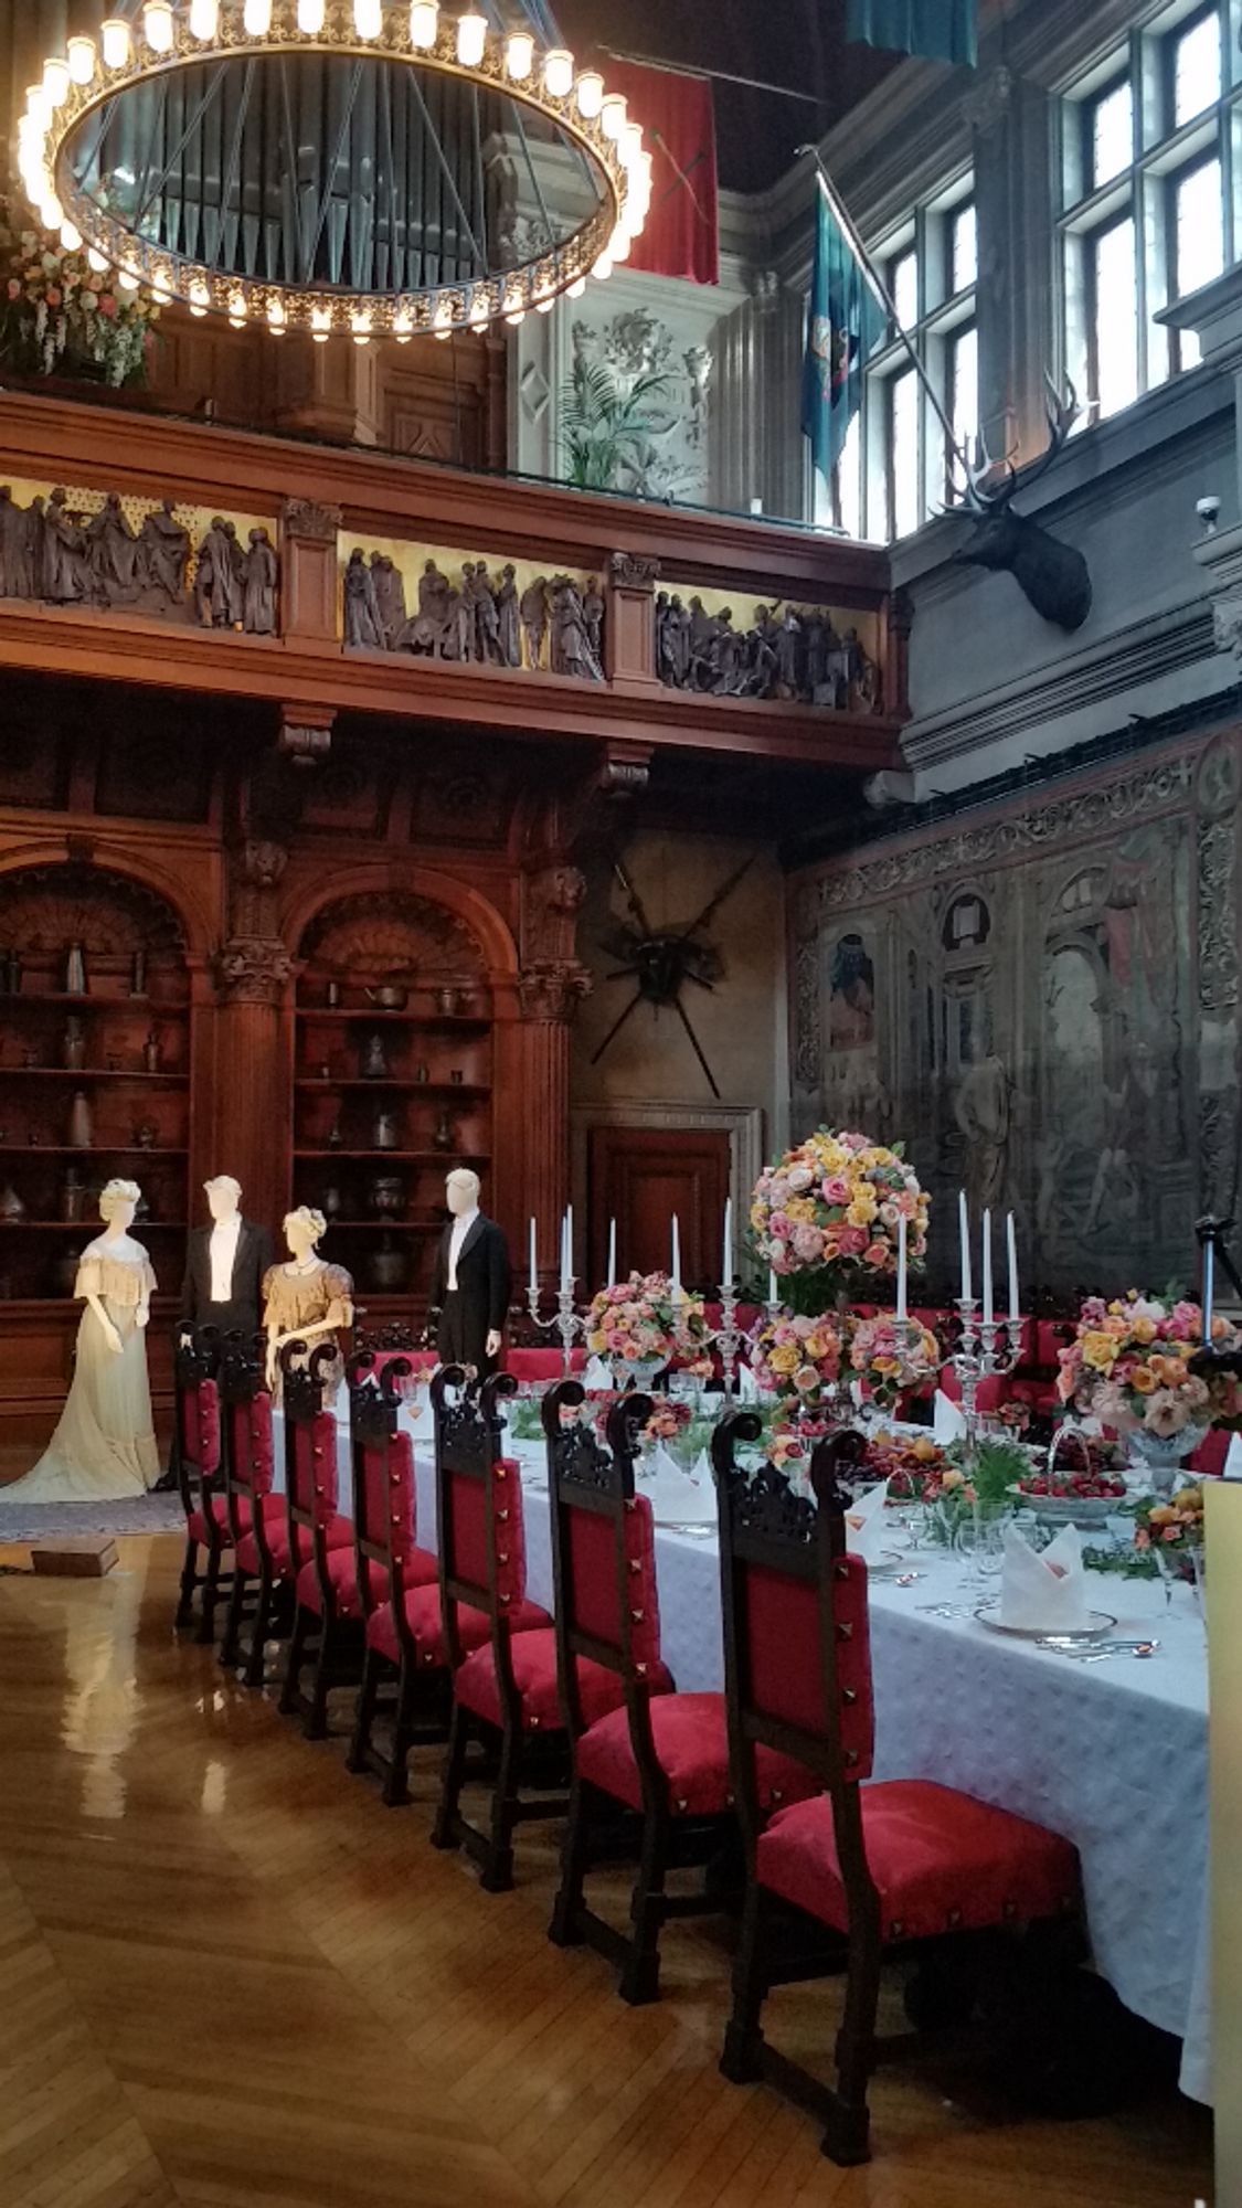
<instances>
[{"instance_id":1,"label":"flower arrangement on the balcony at upper left, beneath the chandelier","mask_svg":"<svg viewBox=\"0 0 1242 2208\"><path fill-rule=\"evenodd\" d=\"M141 285L119 291L84 252L20 230L0 199L0 360L27 375L102 375L137 384L155 344L159 305Z\"/></svg>"}]
</instances>

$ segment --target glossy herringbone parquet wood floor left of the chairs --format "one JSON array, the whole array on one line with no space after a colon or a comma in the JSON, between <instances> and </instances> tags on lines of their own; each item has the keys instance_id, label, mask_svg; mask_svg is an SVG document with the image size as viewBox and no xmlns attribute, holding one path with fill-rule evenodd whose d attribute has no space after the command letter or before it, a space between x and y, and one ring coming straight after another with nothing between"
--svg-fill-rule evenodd
<instances>
[{"instance_id":1,"label":"glossy herringbone parquet wood floor left of the chairs","mask_svg":"<svg viewBox=\"0 0 1242 2208\"><path fill-rule=\"evenodd\" d=\"M875 2162L725 2084L720 1928L665 1998L548 1945L555 1830L482 1894L170 1632L179 1543L106 1581L0 1579L0 2208L1191 2208L1176 2098L1036 2124L926 2071L875 2084ZM617 1897L623 1894L617 1881ZM1149 1897L1136 1897L1136 1908ZM835 1989L780 1996L802 2047Z\"/></svg>"}]
</instances>

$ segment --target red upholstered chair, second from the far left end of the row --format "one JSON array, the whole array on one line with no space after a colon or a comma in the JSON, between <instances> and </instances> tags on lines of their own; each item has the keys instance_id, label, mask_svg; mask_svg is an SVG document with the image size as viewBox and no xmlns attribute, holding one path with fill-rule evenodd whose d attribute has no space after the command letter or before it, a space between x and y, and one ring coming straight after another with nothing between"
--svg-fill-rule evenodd
<instances>
[{"instance_id":1,"label":"red upholstered chair, second from the far left end of the row","mask_svg":"<svg viewBox=\"0 0 1242 2208\"><path fill-rule=\"evenodd\" d=\"M221 1663L241 1660L241 1627L252 1621L245 1685L263 1685L263 1649L272 1630L276 1563L272 1535L285 1528L285 1497L272 1493L272 1395L263 1382L263 1336L225 1336L219 1365L221 1471L232 1541L232 1594Z\"/></svg>"}]
</instances>

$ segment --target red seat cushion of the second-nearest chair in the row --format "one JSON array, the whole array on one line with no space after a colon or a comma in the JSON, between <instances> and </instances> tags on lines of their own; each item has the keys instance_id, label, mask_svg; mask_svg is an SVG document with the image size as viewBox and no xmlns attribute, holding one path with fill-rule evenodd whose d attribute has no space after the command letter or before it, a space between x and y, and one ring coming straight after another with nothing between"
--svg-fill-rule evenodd
<instances>
[{"instance_id":1,"label":"red seat cushion of the second-nearest chair in the row","mask_svg":"<svg viewBox=\"0 0 1242 2208\"><path fill-rule=\"evenodd\" d=\"M678 1817L720 1817L731 1808L729 1727L723 1694L661 1694L652 1702L652 1747L667 1780L670 1806ZM577 1744L577 1769L583 1780L625 1802L643 1806L639 1766L630 1747L630 1713L612 1709L586 1731ZM798 1802L818 1793L818 1780L804 1764L760 1747L756 1753L758 1793L765 1808Z\"/></svg>"}]
</instances>

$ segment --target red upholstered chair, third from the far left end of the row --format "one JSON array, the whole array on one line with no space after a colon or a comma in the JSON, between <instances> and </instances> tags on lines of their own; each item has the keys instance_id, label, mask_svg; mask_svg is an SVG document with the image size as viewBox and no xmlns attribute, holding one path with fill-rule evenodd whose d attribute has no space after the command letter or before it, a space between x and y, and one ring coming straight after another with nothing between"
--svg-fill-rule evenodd
<instances>
[{"instance_id":1,"label":"red upholstered chair, third from the far left end of the row","mask_svg":"<svg viewBox=\"0 0 1242 2208\"><path fill-rule=\"evenodd\" d=\"M362 1630L354 1570L354 1524L338 1508L336 1413L323 1406L325 1369L336 1347L285 1342L281 1349L285 1411L287 1570L294 1577L294 1632L281 1685L283 1716L298 1713L307 1740L327 1733L331 1687L356 1687L362 1674ZM314 1660L309 1691L303 1667Z\"/></svg>"}]
</instances>

